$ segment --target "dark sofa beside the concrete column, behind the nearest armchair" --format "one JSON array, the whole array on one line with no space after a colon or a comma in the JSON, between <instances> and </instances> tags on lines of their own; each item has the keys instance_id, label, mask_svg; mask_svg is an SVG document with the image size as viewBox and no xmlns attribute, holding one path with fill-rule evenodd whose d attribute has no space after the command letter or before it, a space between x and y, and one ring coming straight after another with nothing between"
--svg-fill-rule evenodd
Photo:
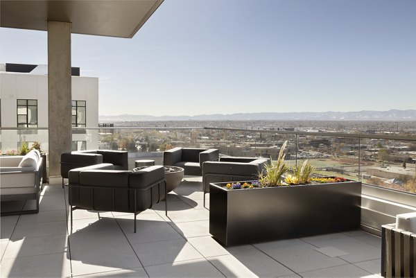
<instances>
[{"instance_id":1,"label":"dark sofa beside the concrete column, behind the nearest armchair","mask_svg":"<svg viewBox=\"0 0 416 278\"><path fill-rule=\"evenodd\" d=\"M68 178L68 173L73 168L84 166L111 163L114 170L128 170L128 152L121 150L81 150L61 155L61 176L62 187L64 178Z\"/></svg>"}]
</instances>

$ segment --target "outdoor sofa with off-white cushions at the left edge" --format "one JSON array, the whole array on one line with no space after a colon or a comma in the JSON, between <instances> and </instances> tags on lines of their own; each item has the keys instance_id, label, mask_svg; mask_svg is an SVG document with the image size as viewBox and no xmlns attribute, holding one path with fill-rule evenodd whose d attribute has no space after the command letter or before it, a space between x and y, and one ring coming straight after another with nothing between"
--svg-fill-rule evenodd
<instances>
[{"instance_id":1,"label":"outdoor sofa with off-white cushions at the left edge","mask_svg":"<svg viewBox=\"0 0 416 278\"><path fill-rule=\"evenodd\" d=\"M36 200L36 208L25 211L1 211L1 215L37 214L42 190L42 157L38 150L24 156L0 156L1 202Z\"/></svg>"}]
</instances>

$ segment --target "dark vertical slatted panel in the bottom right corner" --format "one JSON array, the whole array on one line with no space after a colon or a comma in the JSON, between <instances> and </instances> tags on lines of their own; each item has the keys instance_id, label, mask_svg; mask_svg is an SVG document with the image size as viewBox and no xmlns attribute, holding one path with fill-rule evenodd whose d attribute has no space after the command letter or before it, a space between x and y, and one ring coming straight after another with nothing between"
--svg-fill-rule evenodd
<instances>
[{"instance_id":1,"label":"dark vertical slatted panel in the bottom right corner","mask_svg":"<svg viewBox=\"0 0 416 278\"><path fill-rule=\"evenodd\" d=\"M416 277L416 234L395 227L382 226L381 275Z\"/></svg>"}]
</instances>

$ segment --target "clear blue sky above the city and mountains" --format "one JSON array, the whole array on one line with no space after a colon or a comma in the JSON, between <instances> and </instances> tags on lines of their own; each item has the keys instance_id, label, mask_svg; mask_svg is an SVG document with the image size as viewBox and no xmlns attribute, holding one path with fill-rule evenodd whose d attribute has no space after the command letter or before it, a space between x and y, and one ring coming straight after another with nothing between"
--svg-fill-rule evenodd
<instances>
[{"instance_id":1,"label":"clear blue sky above the city and mountains","mask_svg":"<svg viewBox=\"0 0 416 278\"><path fill-rule=\"evenodd\" d=\"M0 62L46 32L0 28ZM416 0L165 0L132 39L72 35L99 114L416 109Z\"/></svg>"}]
</instances>

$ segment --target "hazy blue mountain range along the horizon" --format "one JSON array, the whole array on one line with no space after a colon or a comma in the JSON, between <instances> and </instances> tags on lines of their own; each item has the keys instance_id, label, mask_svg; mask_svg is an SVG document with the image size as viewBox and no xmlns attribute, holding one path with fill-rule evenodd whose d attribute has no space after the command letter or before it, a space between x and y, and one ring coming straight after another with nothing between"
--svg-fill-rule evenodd
<instances>
[{"instance_id":1,"label":"hazy blue mountain range along the horizon","mask_svg":"<svg viewBox=\"0 0 416 278\"><path fill-rule=\"evenodd\" d=\"M98 116L101 122L119 121L416 121L416 110L358 111L358 112L263 112L236 114L203 114L196 116L148 116L123 114Z\"/></svg>"}]
</instances>

